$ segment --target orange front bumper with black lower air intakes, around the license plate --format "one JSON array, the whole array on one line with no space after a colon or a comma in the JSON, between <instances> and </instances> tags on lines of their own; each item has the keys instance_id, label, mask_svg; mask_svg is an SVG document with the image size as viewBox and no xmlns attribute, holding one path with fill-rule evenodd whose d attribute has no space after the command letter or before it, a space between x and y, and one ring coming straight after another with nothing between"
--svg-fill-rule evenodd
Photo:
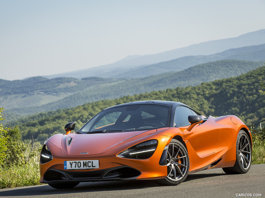
<instances>
[{"instance_id":1,"label":"orange front bumper with black lower air intakes, around the license plate","mask_svg":"<svg viewBox=\"0 0 265 198\"><path fill-rule=\"evenodd\" d=\"M122 150L131 145L121 145L113 150L84 156L67 156L62 149L51 142L46 142L51 150L53 159L47 163L40 163L41 183L90 182L90 181L118 181L118 180L148 180L161 179L167 176L167 166L159 165L165 145L171 138L156 135L158 146L152 157L144 160L125 159L117 157ZM53 152L55 151L56 152ZM66 160L99 160L99 168L87 170L65 170Z\"/></svg>"}]
</instances>

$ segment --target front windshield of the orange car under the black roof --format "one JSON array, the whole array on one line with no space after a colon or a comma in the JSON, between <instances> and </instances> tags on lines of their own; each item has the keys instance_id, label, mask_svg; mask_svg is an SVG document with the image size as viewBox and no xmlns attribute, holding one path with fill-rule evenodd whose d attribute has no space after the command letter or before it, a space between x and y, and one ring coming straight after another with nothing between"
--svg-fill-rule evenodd
<instances>
[{"instance_id":1,"label":"front windshield of the orange car under the black roof","mask_svg":"<svg viewBox=\"0 0 265 198\"><path fill-rule=\"evenodd\" d=\"M101 111L79 131L112 133L169 127L171 108L164 105L127 105Z\"/></svg>"}]
</instances>

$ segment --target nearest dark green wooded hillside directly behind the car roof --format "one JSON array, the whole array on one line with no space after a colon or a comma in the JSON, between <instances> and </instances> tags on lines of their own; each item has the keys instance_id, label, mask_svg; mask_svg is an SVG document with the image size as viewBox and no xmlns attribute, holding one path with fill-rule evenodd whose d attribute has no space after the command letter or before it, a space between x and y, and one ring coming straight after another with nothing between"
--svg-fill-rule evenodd
<instances>
[{"instance_id":1,"label":"nearest dark green wooded hillside directly behind the car roof","mask_svg":"<svg viewBox=\"0 0 265 198\"><path fill-rule=\"evenodd\" d=\"M265 97L258 93L259 81L265 79L265 66L238 77L204 82L198 86L177 87L164 91L152 91L114 100L101 100L82 106L40 113L10 123L19 126L23 139L32 135L43 141L47 136L64 133L64 125L75 121L79 129L87 120L106 107L139 100L169 100L183 102L209 116L237 115L246 124L265 119ZM40 133L41 131L41 133Z\"/></svg>"}]
</instances>

